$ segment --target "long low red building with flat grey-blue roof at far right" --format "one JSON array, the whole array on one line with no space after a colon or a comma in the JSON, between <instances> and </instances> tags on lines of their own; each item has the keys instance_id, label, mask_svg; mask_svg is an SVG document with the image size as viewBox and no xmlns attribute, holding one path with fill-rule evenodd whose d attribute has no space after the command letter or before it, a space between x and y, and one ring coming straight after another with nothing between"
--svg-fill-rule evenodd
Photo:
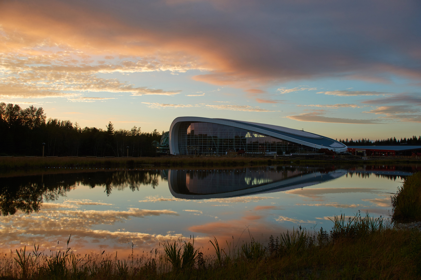
<instances>
[{"instance_id":1,"label":"long low red building with flat grey-blue roof at far right","mask_svg":"<svg viewBox=\"0 0 421 280\"><path fill-rule=\"evenodd\" d=\"M362 157L421 156L421 146L406 144L394 146L348 146L348 152Z\"/></svg>"}]
</instances>

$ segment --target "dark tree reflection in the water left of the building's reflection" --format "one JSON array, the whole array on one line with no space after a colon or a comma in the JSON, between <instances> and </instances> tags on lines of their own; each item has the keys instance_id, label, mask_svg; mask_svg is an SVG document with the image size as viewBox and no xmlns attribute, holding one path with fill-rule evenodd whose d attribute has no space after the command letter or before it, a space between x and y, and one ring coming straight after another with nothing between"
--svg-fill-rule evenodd
<instances>
[{"instance_id":1,"label":"dark tree reflection in the water left of the building's reflection","mask_svg":"<svg viewBox=\"0 0 421 280\"><path fill-rule=\"evenodd\" d=\"M3 216L18 210L27 214L38 212L43 201L54 201L76 186L103 187L109 196L113 189L139 191L141 185L155 188L166 170L130 170L114 172L62 173L1 178L0 211Z\"/></svg>"}]
</instances>

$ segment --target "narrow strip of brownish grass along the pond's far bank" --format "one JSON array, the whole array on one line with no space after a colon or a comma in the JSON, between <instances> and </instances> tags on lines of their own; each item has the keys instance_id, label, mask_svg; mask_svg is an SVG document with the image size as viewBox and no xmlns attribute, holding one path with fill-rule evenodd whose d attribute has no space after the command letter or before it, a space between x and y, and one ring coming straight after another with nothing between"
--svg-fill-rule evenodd
<instances>
[{"instance_id":1,"label":"narrow strip of brownish grass along the pond's far bank","mask_svg":"<svg viewBox=\"0 0 421 280\"><path fill-rule=\"evenodd\" d=\"M417 160L365 160L364 164L418 163ZM153 165L156 167L241 167L253 165L314 165L314 164L361 164L362 160L312 160L295 157L0 157L0 170L44 167L127 167Z\"/></svg>"}]
</instances>

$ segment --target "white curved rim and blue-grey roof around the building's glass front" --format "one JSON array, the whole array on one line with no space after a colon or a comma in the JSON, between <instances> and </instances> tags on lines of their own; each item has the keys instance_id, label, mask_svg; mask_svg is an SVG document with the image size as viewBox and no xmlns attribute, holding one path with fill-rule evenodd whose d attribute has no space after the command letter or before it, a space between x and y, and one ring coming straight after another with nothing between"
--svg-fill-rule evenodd
<instances>
[{"instance_id":1,"label":"white curved rim and blue-grey roof around the building's glass front","mask_svg":"<svg viewBox=\"0 0 421 280\"><path fill-rule=\"evenodd\" d=\"M280 140L282 143L300 147L304 151L317 152L319 149L328 149L333 152L346 152L346 145L339 141L321 136L307 131L301 131L293 128L286 128L283 126L274 126L264 123L252 123L240 120L228 120L220 118L203 118L203 117L178 117L171 123L169 131L169 144L171 154L182 154L179 147L179 137L181 125L186 126L186 123L207 123L219 125L218 127L231 127L241 131L242 133L258 133L258 136L268 137L268 139ZM180 132L180 133L179 133ZM182 133L181 133L182 134ZM254 135L254 134L252 134ZM208 136L210 139L217 138L216 136ZM238 139L239 136L236 136ZM242 136L240 136L241 138ZM221 149L221 148L219 148ZM218 151L221 153L221 151ZM213 152L212 152L213 153Z\"/></svg>"}]
</instances>

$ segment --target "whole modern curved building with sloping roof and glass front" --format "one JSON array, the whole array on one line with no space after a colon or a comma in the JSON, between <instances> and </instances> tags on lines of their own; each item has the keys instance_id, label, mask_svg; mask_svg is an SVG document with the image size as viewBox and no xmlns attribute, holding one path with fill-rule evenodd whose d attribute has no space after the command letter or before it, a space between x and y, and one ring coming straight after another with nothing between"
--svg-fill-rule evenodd
<instances>
[{"instance_id":1,"label":"whole modern curved building with sloping roof and glass front","mask_svg":"<svg viewBox=\"0 0 421 280\"><path fill-rule=\"evenodd\" d=\"M306 131L264 123L202 117L179 117L169 131L170 153L175 155L225 155L317 153L320 149L346 152L339 141ZM325 150L326 151L326 150Z\"/></svg>"}]
</instances>

